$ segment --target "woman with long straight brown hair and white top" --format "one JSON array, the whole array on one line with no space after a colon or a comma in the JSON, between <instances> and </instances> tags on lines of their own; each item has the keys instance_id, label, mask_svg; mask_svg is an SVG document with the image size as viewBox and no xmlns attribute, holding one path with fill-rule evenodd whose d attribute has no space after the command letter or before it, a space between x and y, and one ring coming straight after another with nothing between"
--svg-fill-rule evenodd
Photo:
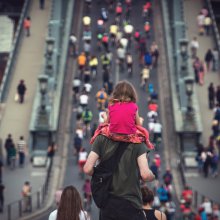
<instances>
[{"instance_id":1,"label":"woman with long straight brown hair and white top","mask_svg":"<svg viewBox=\"0 0 220 220\"><path fill-rule=\"evenodd\" d=\"M48 220L90 220L83 210L82 199L74 186L63 189L59 206L50 213Z\"/></svg>"}]
</instances>

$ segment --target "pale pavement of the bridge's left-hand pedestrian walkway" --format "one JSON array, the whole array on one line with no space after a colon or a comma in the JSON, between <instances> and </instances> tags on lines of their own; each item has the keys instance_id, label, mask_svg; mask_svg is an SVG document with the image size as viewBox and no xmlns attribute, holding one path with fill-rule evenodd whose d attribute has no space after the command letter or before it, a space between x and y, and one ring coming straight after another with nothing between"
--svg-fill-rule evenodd
<instances>
[{"instance_id":1,"label":"pale pavement of the bridge's left-hand pedestrian walkway","mask_svg":"<svg viewBox=\"0 0 220 220\"><path fill-rule=\"evenodd\" d=\"M31 17L31 35L30 37L26 37L24 33L20 42L17 61L9 85L9 92L4 103L4 114L0 123L0 138L3 140L3 144L9 133L12 134L15 144L21 135L24 136L27 143L29 142L29 124L33 100L38 85L38 75L41 74L43 69L50 8L50 1L45 1L44 10L39 9L39 1L34 0L31 3L28 14ZM25 102L23 104L14 101L16 88L21 79L25 80L27 87ZM4 145L2 147L4 148ZM4 149L3 152L5 154ZM31 182L32 192L37 191L44 182L45 173L44 168L33 168L29 158L26 158L24 168L16 167L15 170L11 170L5 166L3 170L5 205L21 199L21 189L25 180ZM2 220L6 219L6 208L5 206L4 214L0 214Z\"/></svg>"}]
</instances>

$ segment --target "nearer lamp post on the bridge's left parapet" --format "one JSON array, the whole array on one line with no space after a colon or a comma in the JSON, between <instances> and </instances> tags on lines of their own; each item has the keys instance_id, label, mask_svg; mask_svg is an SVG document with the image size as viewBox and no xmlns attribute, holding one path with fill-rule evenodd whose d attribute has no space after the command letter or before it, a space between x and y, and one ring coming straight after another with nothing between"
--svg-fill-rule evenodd
<instances>
[{"instance_id":1,"label":"nearer lamp post on the bridge's left parapet","mask_svg":"<svg viewBox=\"0 0 220 220\"><path fill-rule=\"evenodd\" d=\"M38 123L37 127L47 128L48 127L48 114L46 110L46 93L47 93L47 84L48 84L48 76L40 75L38 77L39 85L40 85L40 93L41 93L41 101L40 108L38 112Z\"/></svg>"}]
</instances>

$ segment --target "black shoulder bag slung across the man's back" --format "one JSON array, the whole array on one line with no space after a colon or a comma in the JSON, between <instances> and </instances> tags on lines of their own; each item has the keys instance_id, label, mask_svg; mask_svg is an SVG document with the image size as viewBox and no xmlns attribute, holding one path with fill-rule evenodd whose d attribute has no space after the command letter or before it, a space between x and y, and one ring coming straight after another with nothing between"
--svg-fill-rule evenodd
<instances>
[{"instance_id":1,"label":"black shoulder bag slung across the man's back","mask_svg":"<svg viewBox=\"0 0 220 220\"><path fill-rule=\"evenodd\" d=\"M98 208L104 208L108 201L114 171L128 145L129 143L120 142L110 158L101 161L94 167L94 173L91 179L91 190L93 200Z\"/></svg>"}]
</instances>

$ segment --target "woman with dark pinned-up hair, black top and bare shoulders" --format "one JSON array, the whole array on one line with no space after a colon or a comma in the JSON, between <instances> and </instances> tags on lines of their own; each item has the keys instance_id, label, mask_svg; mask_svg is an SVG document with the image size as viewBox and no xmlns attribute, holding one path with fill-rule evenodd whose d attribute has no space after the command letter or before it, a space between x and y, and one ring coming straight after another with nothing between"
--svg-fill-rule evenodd
<instances>
[{"instance_id":1,"label":"woman with dark pinned-up hair, black top and bare shoulders","mask_svg":"<svg viewBox=\"0 0 220 220\"><path fill-rule=\"evenodd\" d=\"M154 202L154 193L147 186L141 188L142 200L143 200L143 210L146 215L146 219L151 220L166 220L167 217L165 213L156 210L152 207Z\"/></svg>"}]
</instances>

